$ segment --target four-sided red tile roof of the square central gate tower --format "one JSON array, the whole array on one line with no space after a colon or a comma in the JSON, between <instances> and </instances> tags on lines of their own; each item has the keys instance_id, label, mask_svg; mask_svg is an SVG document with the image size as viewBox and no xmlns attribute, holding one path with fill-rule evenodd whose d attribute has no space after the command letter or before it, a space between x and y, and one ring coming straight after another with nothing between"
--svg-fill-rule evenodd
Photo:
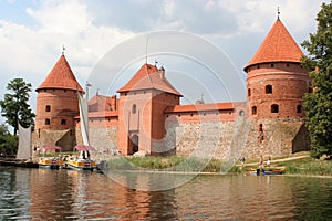
<instances>
[{"instance_id":1,"label":"four-sided red tile roof of the square central gate tower","mask_svg":"<svg viewBox=\"0 0 332 221\"><path fill-rule=\"evenodd\" d=\"M117 92L154 88L181 96L181 94L177 92L164 76L164 70L158 70L151 64L144 64L122 88L117 90Z\"/></svg>"}]
</instances>

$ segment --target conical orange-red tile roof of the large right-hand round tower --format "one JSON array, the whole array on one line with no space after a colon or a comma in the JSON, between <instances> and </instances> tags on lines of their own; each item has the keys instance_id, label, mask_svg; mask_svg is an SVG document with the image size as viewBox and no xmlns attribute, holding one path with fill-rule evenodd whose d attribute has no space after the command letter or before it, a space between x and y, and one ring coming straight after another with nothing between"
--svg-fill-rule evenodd
<instances>
[{"instance_id":1,"label":"conical orange-red tile roof of the large right-hand round tower","mask_svg":"<svg viewBox=\"0 0 332 221\"><path fill-rule=\"evenodd\" d=\"M259 63L300 62L302 55L299 45L278 19L245 71Z\"/></svg>"}]
</instances>

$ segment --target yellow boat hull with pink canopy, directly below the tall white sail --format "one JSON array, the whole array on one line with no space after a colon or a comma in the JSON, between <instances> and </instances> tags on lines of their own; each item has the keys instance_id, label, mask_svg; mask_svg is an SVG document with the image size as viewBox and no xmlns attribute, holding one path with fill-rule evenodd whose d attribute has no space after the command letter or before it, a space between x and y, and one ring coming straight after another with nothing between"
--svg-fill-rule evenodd
<instances>
[{"instance_id":1,"label":"yellow boat hull with pink canopy, directly below the tall white sail","mask_svg":"<svg viewBox=\"0 0 332 221\"><path fill-rule=\"evenodd\" d=\"M96 162L90 159L89 151L94 150L91 146L75 146L75 150L80 152L79 157L70 157L65 162L65 168L76 170L94 170Z\"/></svg>"}]
</instances>

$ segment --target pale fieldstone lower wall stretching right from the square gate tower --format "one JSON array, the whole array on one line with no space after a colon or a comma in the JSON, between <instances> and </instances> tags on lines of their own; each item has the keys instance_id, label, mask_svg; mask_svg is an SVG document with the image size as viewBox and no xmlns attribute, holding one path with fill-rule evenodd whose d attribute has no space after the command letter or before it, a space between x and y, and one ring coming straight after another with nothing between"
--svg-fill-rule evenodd
<instances>
[{"instance_id":1,"label":"pale fieldstone lower wall stretching right from the square gate tower","mask_svg":"<svg viewBox=\"0 0 332 221\"><path fill-rule=\"evenodd\" d=\"M237 117L234 122L168 122L165 145L176 155L212 157L222 160L288 156L309 149L308 133L303 119L251 120ZM262 125L263 140L260 140ZM298 137L298 138L297 138ZM295 144L295 149L294 149Z\"/></svg>"}]
</instances>

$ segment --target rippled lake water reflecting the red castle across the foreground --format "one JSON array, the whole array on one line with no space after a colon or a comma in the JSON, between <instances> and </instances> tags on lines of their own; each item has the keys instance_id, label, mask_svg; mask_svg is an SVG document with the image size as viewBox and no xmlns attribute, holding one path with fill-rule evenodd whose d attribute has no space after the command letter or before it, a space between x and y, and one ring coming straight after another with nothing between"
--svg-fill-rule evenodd
<instances>
[{"instance_id":1,"label":"rippled lake water reflecting the red castle across the foreground","mask_svg":"<svg viewBox=\"0 0 332 221\"><path fill-rule=\"evenodd\" d=\"M332 220L332 179L204 175L139 191L97 172L0 167L0 220Z\"/></svg>"}]
</instances>

